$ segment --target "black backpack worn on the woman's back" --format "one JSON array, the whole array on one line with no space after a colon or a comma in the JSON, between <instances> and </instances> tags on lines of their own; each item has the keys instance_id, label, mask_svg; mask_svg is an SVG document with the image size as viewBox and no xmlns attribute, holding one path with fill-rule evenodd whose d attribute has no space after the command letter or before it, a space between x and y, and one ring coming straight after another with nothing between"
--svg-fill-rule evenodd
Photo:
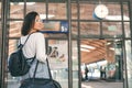
<instances>
[{"instance_id":1,"label":"black backpack worn on the woman's back","mask_svg":"<svg viewBox=\"0 0 132 88\"><path fill-rule=\"evenodd\" d=\"M29 36L28 36L28 38L29 38ZM28 41L28 38L26 38L26 41ZM26 41L25 41L25 43L26 43ZM21 38L20 38L20 45L18 47L18 51L12 53L9 57L8 68L9 68L11 76L13 76L13 77L25 75L29 72L29 69L35 58L35 56L32 58L26 58L23 55L22 47L24 46L24 44L23 45L21 44ZM31 62L28 62L28 61L31 61Z\"/></svg>"}]
</instances>

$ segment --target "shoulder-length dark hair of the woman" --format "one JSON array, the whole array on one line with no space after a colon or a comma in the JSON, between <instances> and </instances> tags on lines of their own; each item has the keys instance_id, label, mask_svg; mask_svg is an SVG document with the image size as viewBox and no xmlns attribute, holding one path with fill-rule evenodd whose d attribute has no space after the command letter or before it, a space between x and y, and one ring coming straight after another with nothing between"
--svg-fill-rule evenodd
<instances>
[{"instance_id":1,"label":"shoulder-length dark hair of the woman","mask_svg":"<svg viewBox=\"0 0 132 88\"><path fill-rule=\"evenodd\" d=\"M36 15L38 15L38 13L35 12L35 11L29 12L25 15L24 22L23 22L22 29L21 29L21 34L22 35L28 35L29 34L29 32L31 31L32 26L34 25Z\"/></svg>"}]
</instances>

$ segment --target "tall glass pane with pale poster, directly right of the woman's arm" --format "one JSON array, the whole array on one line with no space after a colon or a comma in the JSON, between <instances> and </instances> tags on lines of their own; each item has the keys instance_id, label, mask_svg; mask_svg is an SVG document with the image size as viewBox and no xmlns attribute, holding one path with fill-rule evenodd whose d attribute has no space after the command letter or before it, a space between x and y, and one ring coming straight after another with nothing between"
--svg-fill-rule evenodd
<instances>
[{"instance_id":1,"label":"tall glass pane with pale poster, directly right of the woman's arm","mask_svg":"<svg viewBox=\"0 0 132 88\"><path fill-rule=\"evenodd\" d=\"M47 55L53 79L62 88L68 88L68 45L67 41L48 40Z\"/></svg>"}]
</instances>

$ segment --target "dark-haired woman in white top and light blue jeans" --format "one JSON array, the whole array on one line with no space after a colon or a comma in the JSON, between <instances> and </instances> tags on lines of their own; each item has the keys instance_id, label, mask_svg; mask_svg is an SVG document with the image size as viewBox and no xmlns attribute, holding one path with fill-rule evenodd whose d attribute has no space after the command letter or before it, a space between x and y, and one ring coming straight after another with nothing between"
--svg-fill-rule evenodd
<instances>
[{"instance_id":1,"label":"dark-haired woman in white top and light blue jeans","mask_svg":"<svg viewBox=\"0 0 132 88\"><path fill-rule=\"evenodd\" d=\"M33 77L36 59L40 61L36 75L37 78L48 78L48 70L46 64L46 55L45 55L45 38L44 34L40 33L44 28L42 20L37 12L30 12L25 15L24 22L21 29L21 44L24 44L25 40L30 35L25 45L23 46L23 54L25 57L31 58L35 56L35 61L33 62L30 72L22 76L22 79Z\"/></svg>"}]
</instances>

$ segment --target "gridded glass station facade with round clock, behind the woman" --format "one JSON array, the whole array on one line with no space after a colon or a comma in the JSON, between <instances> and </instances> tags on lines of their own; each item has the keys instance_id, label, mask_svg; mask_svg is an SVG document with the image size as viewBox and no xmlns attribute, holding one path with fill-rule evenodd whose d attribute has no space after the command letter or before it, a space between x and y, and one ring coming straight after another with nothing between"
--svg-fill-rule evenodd
<instances>
[{"instance_id":1,"label":"gridded glass station facade with round clock, behind the woman","mask_svg":"<svg viewBox=\"0 0 132 88\"><path fill-rule=\"evenodd\" d=\"M82 53L81 44L95 44L96 48L100 48L103 44L105 47L99 50L101 52L95 51L99 54L97 57L102 59L101 54L106 54L109 64L116 61L113 65L109 65L110 73L112 68L118 67L116 79L123 80L123 88L131 88L131 0L2 0L0 2L1 88L20 85L20 78L11 77L8 72L8 56L16 50L23 18L30 11L37 11L46 25L45 29L48 29L43 31L50 35L46 38L47 54L57 51L50 59L52 75L63 88L81 88L81 64L94 63L97 59L89 57L94 52L87 55ZM99 42L96 43L97 41ZM107 50L108 43L112 44L114 56Z\"/></svg>"}]
</instances>

